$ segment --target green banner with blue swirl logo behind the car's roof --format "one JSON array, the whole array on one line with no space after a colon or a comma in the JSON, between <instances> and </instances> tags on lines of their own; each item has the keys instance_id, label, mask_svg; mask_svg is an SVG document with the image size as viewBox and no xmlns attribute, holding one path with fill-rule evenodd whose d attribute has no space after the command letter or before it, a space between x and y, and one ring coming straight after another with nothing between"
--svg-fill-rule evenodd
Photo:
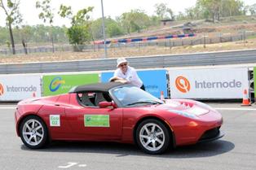
<instances>
[{"instance_id":1,"label":"green banner with blue swirl logo behind the car's roof","mask_svg":"<svg viewBox=\"0 0 256 170\"><path fill-rule=\"evenodd\" d=\"M98 82L99 74L42 76L43 96L66 94L73 86Z\"/></svg>"}]
</instances>

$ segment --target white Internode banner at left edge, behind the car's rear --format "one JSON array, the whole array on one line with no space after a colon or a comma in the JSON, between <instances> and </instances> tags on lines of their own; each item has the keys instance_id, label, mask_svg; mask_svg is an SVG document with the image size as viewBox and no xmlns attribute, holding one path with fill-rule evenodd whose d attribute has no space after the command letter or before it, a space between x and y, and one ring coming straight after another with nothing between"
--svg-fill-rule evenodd
<instances>
[{"instance_id":1,"label":"white Internode banner at left edge, behind the car's rear","mask_svg":"<svg viewBox=\"0 0 256 170\"><path fill-rule=\"evenodd\" d=\"M41 76L0 76L0 101L20 101L41 96Z\"/></svg>"}]
</instances>

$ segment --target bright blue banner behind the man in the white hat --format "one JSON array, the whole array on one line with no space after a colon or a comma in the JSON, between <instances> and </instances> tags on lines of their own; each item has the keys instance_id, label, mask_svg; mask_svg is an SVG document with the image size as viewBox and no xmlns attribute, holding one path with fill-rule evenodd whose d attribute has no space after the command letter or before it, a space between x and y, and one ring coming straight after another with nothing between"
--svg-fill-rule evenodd
<instances>
[{"instance_id":1,"label":"bright blue banner behind the man in the white hat","mask_svg":"<svg viewBox=\"0 0 256 170\"><path fill-rule=\"evenodd\" d=\"M138 71L137 73L148 93L160 98L161 91L163 91L165 98L167 98L166 70L146 70ZM103 72L101 74L101 81L108 82L113 74L114 72Z\"/></svg>"}]
</instances>

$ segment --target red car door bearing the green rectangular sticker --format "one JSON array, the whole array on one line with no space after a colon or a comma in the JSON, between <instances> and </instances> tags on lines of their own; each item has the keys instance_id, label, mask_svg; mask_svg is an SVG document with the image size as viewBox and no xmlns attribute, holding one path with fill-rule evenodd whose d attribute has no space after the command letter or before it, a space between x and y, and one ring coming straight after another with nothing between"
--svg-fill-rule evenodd
<instances>
[{"instance_id":1,"label":"red car door bearing the green rectangular sticker","mask_svg":"<svg viewBox=\"0 0 256 170\"><path fill-rule=\"evenodd\" d=\"M71 95L70 103L75 107L68 107L65 112L77 138L85 140L119 140L121 138L121 108L82 106L77 101L77 94Z\"/></svg>"}]
</instances>

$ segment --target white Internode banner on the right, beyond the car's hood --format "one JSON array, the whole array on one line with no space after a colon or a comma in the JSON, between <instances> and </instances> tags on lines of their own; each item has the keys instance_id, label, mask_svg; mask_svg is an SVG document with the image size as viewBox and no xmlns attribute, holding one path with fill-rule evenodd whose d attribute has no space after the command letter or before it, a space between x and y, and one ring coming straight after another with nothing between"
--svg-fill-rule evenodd
<instances>
[{"instance_id":1,"label":"white Internode banner on the right, beyond the car's hood","mask_svg":"<svg viewBox=\"0 0 256 170\"><path fill-rule=\"evenodd\" d=\"M171 98L243 98L248 68L169 70Z\"/></svg>"}]
</instances>

